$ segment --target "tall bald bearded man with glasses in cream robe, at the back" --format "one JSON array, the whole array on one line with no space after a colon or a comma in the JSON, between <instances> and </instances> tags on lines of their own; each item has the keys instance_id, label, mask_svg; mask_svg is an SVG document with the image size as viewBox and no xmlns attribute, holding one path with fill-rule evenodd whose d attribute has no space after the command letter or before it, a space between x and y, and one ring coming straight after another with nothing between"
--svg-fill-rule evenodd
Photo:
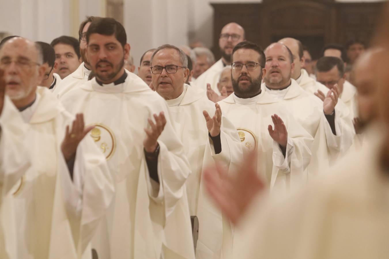
<instances>
[{"instance_id":1,"label":"tall bald bearded man with glasses in cream robe, at the back","mask_svg":"<svg viewBox=\"0 0 389 259\"><path fill-rule=\"evenodd\" d=\"M221 59L216 61L216 63L213 64L207 71L196 78L194 85L206 92L207 83L209 83L211 89L220 95L219 89L217 89L220 73L225 66L231 64L232 49L235 47L235 45L244 40L245 31L242 26L237 23L226 24L222 28L219 38L219 48L222 54Z\"/></svg>"}]
</instances>

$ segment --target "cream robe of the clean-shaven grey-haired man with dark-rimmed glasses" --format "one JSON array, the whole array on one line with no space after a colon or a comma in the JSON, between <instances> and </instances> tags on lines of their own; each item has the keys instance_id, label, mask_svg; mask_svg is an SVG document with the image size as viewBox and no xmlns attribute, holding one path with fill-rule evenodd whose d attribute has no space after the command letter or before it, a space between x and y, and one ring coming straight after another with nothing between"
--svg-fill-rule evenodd
<instances>
[{"instance_id":1,"label":"cream robe of the clean-shaven grey-haired man with dark-rimmed glasses","mask_svg":"<svg viewBox=\"0 0 389 259\"><path fill-rule=\"evenodd\" d=\"M212 117L215 114L215 104L189 85L184 85L184 92L180 97L166 101L172 115L173 126L182 140L192 170L186 185L189 211L191 216L197 216L199 220L196 258L220 258L223 239L222 215L210 201L201 178L203 169L216 161L226 167L242 161L243 153L238 132L223 116L222 110L220 134L222 151L215 154L203 116L205 110Z\"/></svg>"}]
</instances>

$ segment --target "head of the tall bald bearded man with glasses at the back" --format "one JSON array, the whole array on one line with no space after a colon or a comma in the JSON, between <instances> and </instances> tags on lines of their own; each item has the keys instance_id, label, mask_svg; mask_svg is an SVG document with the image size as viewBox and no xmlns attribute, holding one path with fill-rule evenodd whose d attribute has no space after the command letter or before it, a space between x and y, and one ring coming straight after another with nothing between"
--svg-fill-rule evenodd
<instances>
[{"instance_id":1,"label":"head of the tall bald bearded man with glasses at the back","mask_svg":"<svg viewBox=\"0 0 389 259\"><path fill-rule=\"evenodd\" d=\"M221 29L219 47L224 64L231 64L231 53L235 45L245 40L245 31L237 23L228 23Z\"/></svg>"}]
</instances>

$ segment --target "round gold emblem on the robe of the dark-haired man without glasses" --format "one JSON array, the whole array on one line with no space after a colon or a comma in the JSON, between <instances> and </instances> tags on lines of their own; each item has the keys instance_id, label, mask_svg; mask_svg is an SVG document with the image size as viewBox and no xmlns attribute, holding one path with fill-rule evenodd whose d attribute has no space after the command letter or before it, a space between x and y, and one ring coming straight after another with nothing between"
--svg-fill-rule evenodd
<instances>
[{"instance_id":1,"label":"round gold emblem on the robe of the dark-haired man without glasses","mask_svg":"<svg viewBox=\"0 0 389 259\"><path fill-rule=\"evenodd\" d=\"M105 159L109 160L115 153L116 139L113 131L100 123L94 124L95 128L91 130L90 136L95 141L96 145L105 155Z\"/></svg>"}]
</instances>

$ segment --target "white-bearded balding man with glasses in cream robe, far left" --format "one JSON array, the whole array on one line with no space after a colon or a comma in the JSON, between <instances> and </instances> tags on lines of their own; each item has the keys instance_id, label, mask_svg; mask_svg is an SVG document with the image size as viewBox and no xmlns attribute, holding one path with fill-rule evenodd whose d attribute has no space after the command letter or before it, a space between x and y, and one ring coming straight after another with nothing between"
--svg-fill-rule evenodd
<instances>
[{"instance_id":1,"label":"white-bearded balding man with glasses in cream robe, far left","mask_svg":"<svg viewBox=\"0 0 389 259\"><path fill-rule=\"evenodd\" d=\"M32 166L4 197L2 224L9 258L88 258L96 225L114 195L104 157L58 99L37 87L39 45L12 38L0 50L6 93L30 125ZM5 212L5 213L4 213Z\"/></svg>"}]
</instances>

